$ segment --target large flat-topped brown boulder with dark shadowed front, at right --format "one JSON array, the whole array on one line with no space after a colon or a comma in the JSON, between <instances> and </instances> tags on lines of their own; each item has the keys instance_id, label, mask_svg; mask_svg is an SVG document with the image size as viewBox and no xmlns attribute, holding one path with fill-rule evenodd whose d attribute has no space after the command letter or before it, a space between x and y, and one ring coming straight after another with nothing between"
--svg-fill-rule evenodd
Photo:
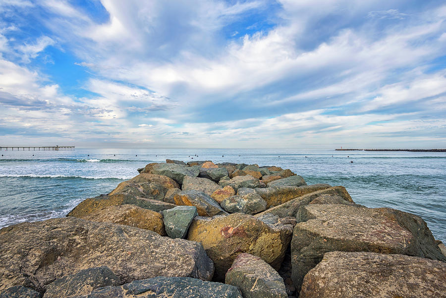
<instances>
[{"instance_id":1,"label":"large flat-topped brown boulder with dark shadowed front, at right","mask_svg":"<svg viewBox=\"0 0 446 298\"><path fill-rule=\"evenodd\" d=\"M446 261L426 223L390 208L312 204L299 208L291 241L292 279L297 289L329 251L398 253Z\"/></svg>"}]
</instances>

